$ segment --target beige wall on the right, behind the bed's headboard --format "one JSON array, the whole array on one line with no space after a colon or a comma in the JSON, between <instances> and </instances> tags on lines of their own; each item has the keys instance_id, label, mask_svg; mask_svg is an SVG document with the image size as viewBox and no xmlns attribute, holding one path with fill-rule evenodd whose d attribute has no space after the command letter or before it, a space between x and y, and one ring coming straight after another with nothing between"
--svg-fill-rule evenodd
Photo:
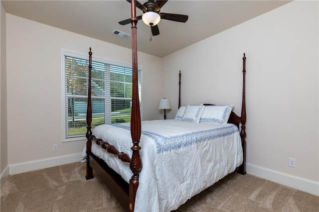
<instances>
[{"instance_id":1,"label":"beige wall on the right, behind the bed's headboard","mask_svg":"<svg viewBox=\"0 0 319 212\"><path fill-rule=\"evenodd\" d=\"M318 1L288 3L166 56L164 95L175 95L170 79L181 70L182 105L234 104L240 114L243 52L249 167L318 186Z\"/></svg>"}]
</instances>

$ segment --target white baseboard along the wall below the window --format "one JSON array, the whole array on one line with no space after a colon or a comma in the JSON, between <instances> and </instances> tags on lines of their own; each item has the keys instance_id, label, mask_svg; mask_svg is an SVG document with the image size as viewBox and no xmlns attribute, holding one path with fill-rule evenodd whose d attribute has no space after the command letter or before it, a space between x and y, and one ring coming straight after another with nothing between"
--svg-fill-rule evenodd
<instances>
[{"instance_id":1,"label":"white baseboard along the wall below the window","mask_svg":"<svg viewBox=\"0 0 319 212\"><path fill-rule=\"evenodd\" d=\"M9 174L14 175L23 172L29 172L38 169L79 162L81 155L82 152L52 158L44 158L40 160L27 161L23 163L9 164Z\"/></svg>"}]
</instances>

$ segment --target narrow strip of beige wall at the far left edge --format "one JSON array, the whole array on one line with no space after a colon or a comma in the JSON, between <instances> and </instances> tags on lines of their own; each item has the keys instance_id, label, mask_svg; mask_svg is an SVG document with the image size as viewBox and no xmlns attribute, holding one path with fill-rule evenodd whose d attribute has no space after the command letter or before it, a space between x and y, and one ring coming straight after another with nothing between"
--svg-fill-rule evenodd
<instances>
[{"instance_id":1,"label":"narrow strip of beige wall at the far left edge","mask_svg":"<svg viewBox=\"0 0 319 212\"><path fill-rule=\"evenodd\" d=\"M0 3L0 173L1 187L8 175L7 119L6 119L6 43L5 11ZM7 170L7 171L5 171Z\"/></svg>"}]
</instances>

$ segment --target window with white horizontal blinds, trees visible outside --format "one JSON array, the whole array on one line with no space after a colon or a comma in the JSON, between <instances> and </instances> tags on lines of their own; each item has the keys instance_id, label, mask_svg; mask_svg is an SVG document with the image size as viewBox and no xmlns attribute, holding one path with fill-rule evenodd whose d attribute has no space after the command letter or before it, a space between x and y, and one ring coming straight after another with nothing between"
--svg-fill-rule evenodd
<instances>
[{"instance_id":1,"label":"window with white horizontal blinds, trees visible outside","mask_svg":"<svg viewBox=\"0 0 319 212\"><path fill-rule=\"evenodd\" d=\"M85 139L88 99L88 55L63 51L64 140ZM130 64L92 58L92 128L103 123L131 121ZM141 76L138 69L141 104Z\"/></svg>"}]
</instances>

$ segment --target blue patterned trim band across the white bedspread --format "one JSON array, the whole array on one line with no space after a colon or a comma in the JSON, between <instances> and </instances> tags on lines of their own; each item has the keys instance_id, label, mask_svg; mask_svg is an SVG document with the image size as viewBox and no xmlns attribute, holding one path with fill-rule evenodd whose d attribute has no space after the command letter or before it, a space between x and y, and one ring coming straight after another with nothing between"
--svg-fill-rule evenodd
<instances>
[{"instance_id":1,"label":"blue patterned trim band across the white bedspread","mask_svg":"<svg viewBox=\"0 0 319 212\"><path fill-rule=\"evenodd\" d=\"M124 126L121 124L109 125L120 127L130 131L130 126ZM155 141L158 154L174 151L176 149L188 147L197 143L203 143L208 140L225 137L238 132L238 128L235 125L227 125L220 128L199 130L195 132L188 132L167 137L154 132L142 130L143 135L149 136Z\"/></svg>"}]
</instances>

